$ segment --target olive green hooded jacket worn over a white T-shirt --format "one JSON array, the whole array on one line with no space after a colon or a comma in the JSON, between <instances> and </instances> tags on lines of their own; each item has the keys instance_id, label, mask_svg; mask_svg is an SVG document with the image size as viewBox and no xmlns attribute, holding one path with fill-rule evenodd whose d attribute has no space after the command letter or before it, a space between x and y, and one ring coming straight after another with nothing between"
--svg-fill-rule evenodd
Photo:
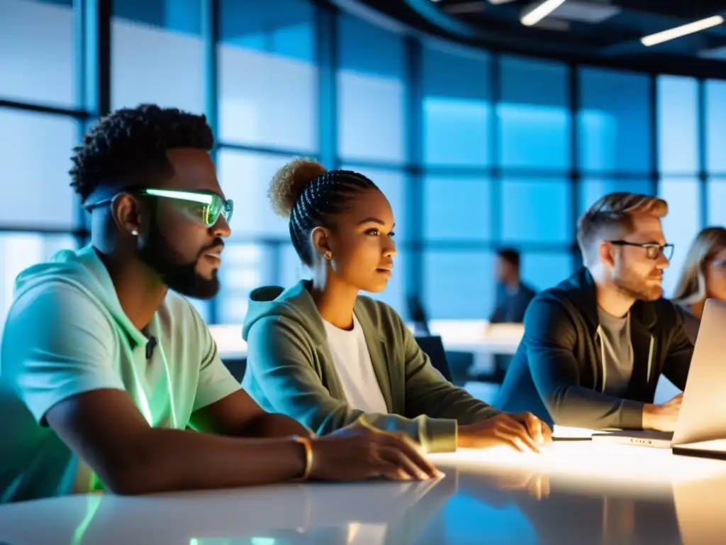
<instances>
[{"instance_id":1,"label":"olive green hooded jacket worn over a white T-shirt","mask_svg":"<svg viewBox=\"0 0 726 545\"><path fill-rule=\"evenodd\" d=\"M389 413L367 414L367 422L404 432L425 451L446 452L456 450L457 421L499 413L447 382L391 307L360 296L354 312ZM286 414L319 435L364 414L346 403L309 282L253 291L242 336L248 343L242 386L266 411Z\"/></svg>"}]
</instances>

